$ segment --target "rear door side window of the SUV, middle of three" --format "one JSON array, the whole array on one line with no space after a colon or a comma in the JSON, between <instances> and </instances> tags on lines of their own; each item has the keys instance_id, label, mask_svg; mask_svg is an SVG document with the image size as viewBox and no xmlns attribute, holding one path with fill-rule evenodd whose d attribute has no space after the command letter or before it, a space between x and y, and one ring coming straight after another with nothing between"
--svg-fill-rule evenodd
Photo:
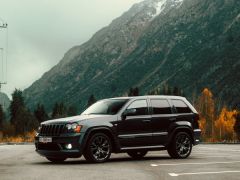
<instances>
[{"instance_id":1,"label":"rear door side window of the SUV, middle of three","mask_svg":"<svg viewBox=\"0 0 240 180\"><path fill-rule=\"evenodd\" d=\"M153 114L171 114L171 108L166 99L152 99L152 113Z\"/></svg>"}]
</instances>

